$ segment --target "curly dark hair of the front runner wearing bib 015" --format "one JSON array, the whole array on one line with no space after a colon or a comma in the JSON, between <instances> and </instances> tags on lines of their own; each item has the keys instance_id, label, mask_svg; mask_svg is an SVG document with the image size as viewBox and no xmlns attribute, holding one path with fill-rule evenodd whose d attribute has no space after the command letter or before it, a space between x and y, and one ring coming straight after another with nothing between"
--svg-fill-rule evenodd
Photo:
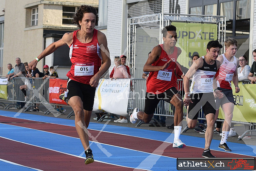
<instances>
[{"instance_id":1,"label":"curly dark hair of the front runner wearing bib 015","mask_svg":"<svg viewBox=\"0 0 256 171\"><path fill-rule=\"evenodd\" d=\"M95 24L98 24L98 12L97 10L93 7L93 6L89 6L89 5L81 5L79 10L76 11L74 18L73 18L73 24L76 24L80 29L81 26L79 24L79 21L82 21L84 13L94 13L95 17L96 17L96 21Z\"/></svg>"}]
</instances>

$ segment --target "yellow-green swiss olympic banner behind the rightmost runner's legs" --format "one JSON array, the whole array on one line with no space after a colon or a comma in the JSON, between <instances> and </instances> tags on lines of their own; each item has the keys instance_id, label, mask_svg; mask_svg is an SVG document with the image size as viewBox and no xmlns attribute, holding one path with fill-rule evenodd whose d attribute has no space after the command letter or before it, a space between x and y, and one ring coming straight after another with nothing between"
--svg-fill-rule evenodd
<instances>
[{"instance_id":1,"label":"yellow-green swiss olympic banner behind the rightmost runner's legs","mask_svg":"<svg viewBox=\"0 0 256 171\"><path fill-rule=\"evenodd\" d=\"M256 85L238 83L240 92L235 92L232 83L233 97L236 104L234 105L233 119L234 121L253 122L256 123ZM221 108L219 108L218 118L225 118Z\"/></svg>"}]
</instances>

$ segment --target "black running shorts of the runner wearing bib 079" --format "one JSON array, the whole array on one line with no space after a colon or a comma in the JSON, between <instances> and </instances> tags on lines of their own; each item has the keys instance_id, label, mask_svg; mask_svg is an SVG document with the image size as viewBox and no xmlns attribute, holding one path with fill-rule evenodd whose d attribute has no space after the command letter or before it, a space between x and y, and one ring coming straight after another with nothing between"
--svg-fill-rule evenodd
<instances>
[{"instance_id":1,"label":"black running shorts of the runner wearing bib 079","mask_svg":"<svg viewBox=\"0 0 256 171\"><path fill-rule=\"evenodd\" d=\"M162 92L157 95L146 92L144 112L148 115L153 114L160 100L165 100L168 103L170 103L172 97L175 94L178 94L178 90L176 90L175 87L171 87L165 92Z\"/></svg>"}]
</instances>

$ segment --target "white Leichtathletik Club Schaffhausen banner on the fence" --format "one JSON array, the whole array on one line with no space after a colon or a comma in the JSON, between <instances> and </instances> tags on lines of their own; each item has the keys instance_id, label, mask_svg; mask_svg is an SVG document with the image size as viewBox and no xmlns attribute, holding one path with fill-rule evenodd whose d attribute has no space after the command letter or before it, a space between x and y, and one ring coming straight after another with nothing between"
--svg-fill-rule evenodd
<instances>
[{"instance_id":1,"label":"white Leichtathletik Club Schaffhausen banner on the fence","mask_svg":"<svg viewBox=\"0 0 256 171\"><path fill-rule=\"evenodd\" d=\"M127 116L130 79L101 79L96 88L93 111Z\"/></svg>"}]
</instances>

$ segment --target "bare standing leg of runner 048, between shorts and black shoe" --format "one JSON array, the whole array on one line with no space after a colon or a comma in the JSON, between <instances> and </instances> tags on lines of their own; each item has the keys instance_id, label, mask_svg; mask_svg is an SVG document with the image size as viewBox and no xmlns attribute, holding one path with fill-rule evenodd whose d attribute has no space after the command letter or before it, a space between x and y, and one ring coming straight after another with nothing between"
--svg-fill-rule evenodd
<instances>
[{"instance_id":1,"label":"bare standing leg of runner 048, between shorts and black shoe","mask_svg":"<svg viewBox=\"0 0 256 171\"><path fill-rule=\"evenodd\" d=\"M212 142L212 137L213 137L213 129L214 129L214 114L213 113L209 113L205 116L206 121L207 121L207 128L204 134L204 138L205 138L205 146L204 149L208 149L208 147L210 147L211 142Z\"/></svg>"}]
</instances>

